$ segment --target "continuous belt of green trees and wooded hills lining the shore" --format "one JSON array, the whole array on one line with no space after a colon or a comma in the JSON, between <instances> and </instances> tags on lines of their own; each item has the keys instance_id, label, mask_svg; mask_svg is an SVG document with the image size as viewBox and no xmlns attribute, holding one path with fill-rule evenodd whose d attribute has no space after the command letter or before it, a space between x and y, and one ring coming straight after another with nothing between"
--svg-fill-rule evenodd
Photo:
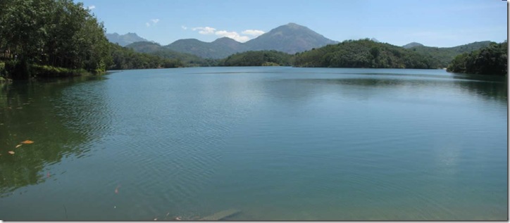
<instances>
[{"instance_id":1,"label":"continuous belt of green trees and wooded hills lining the shore","mask_svg":"<svg viewBox=\"0 0 510 223\"><path fill-rule=\"evenodd\" d=\"M449 72L506 75L507 49L506 41L437 48L359 39L294 55L246 51L221 59L201 58L151 42L129 47L112 44L105 37L104 25L82 3L72 0L0 1L0 80L100 74L106 70L266 65L447 68Z\"/></svg>"}]
</instances>

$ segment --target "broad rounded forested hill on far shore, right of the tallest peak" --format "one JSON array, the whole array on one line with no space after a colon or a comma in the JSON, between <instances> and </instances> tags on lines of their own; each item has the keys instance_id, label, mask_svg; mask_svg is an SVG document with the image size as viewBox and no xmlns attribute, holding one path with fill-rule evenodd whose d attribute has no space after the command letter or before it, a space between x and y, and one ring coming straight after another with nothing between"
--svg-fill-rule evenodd
<instances>
[{"instance_id":1,"label":"broad rounded forested hill on far shore, right of the tallest peak","mask_svg":"<svg viewBox=\"0 0 510 223\"><path fill-rule=\"evenodd\" d=\"M294 66L322 68L439 68L432 56L370 39L347 40L340 44L296 53Z\"/></svg>"}]
</instances>

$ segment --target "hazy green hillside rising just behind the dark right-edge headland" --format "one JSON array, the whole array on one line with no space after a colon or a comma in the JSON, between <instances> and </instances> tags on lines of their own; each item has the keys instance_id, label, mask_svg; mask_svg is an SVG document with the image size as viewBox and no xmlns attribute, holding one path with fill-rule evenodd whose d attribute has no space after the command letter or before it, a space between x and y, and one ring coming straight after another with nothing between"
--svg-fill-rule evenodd
<instances>
[{"instance_id":1,"label":"hazy green hillside rising just behind the dark right-edge headland","mask_svg":"<svg viewBox=\"0 0 510 223\"><path fill-rule=\"evenodd\" d=\"M416 53L420 53L424 56L431 56L438 60L439 67L440 68L446 68L450 62L455 58L455 56L461 54L461 53L468 53L471 51L478 50L480 48L483 48L485 46L489 46L491 42L484 41L484 42L474 42L471 44L465 44L461 46L454 46L454 47L433 47L433 46L423 46L423 45L416 45L409 47L412 51L415 51ZM411 43L412 44L412 43ZM409 45L409 44L408 44ZM408 46L406 45L406 46Z\"/></svg>"}]
</instances>

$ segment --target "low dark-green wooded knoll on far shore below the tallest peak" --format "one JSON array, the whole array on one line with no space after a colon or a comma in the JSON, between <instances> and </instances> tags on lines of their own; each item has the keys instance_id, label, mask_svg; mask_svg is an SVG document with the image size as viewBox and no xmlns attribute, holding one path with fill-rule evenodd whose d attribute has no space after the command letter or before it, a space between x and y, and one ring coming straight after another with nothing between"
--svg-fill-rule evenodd
<instances>
[{"instance_id":1,"label":"low dark-green wooded knoll on far shore below the tallest peak","mask_svg":"<svg viewBox=\"0 0 510 223\"><path fill-rule=\"evenodd\" d=\"M290 65L292 56L279 51L247 51L235 53L220 60L220 66L272 66Z\"/></svg>"}]
</instances>

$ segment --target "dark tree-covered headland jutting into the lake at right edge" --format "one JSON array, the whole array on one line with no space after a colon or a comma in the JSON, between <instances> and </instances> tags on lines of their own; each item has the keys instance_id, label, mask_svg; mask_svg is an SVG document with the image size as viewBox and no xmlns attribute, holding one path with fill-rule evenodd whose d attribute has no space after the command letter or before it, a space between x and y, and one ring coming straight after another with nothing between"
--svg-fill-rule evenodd
<instances>
[{"instance_id":1,"label":"dark tree-covered headland jutting into the lake at right edge","mask_svg":"<svg viewBox=\"0 0 510 223\"><path fill-rule=\"evenodd\" d=\"M449 72L478 75L506 75L508 72L508 42L489 46L456 56L447 68Z\"/></svg>"}]
</instances>

